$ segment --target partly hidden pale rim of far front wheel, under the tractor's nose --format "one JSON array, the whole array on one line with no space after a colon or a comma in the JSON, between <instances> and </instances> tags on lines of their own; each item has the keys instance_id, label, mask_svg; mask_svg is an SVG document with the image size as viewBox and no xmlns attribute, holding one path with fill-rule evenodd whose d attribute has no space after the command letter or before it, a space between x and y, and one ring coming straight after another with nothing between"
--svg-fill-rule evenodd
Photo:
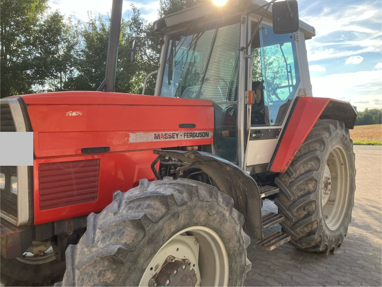
<instances>
[{"instance_id":1,"label":"partly hidden pale rim of far front wheel, under the tractor's nose","mask_svg":"<svg viewBox=\"0 0 382 287\"><path fill-rule=\"evenodd\" d=\"M26 264L44 264L53 261L56 256L49 242L33 242L23 255L15 259Z\"/></svg>"}]
</instances>

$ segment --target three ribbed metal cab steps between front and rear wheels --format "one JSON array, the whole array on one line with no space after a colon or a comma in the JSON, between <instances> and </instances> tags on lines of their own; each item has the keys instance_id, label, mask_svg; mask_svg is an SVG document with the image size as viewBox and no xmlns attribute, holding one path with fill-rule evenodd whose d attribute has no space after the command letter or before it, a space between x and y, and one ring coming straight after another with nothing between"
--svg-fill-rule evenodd
<instances>
[{"instance_id":1,"label":"three ribbed metal cab steps between front and rear wheels","mask_svg":"<svg viewBox=\"0 0 382 287\"><path fill-rule=\"evenodd\" d=\"M278 193L279 189L275 186L261 186L259 187L260 198ZM261 217L262 230L269 229L270 227L282 222L284 216L277 214L275 212L269 212ZM267 236L263 236L262 239L257 240L254 247L263 250L274 250L278 246L288 242L290 240L290 235L281 231L275 231Z\"/></svg>"}]
</instances>

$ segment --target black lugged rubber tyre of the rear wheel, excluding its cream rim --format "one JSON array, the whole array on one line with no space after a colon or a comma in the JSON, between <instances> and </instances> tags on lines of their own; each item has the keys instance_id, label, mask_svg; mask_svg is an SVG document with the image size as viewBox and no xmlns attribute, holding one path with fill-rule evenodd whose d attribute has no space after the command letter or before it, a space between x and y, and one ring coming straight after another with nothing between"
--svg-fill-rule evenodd
<instances>
[{"instance_id":1,"label":"black lugged rubber tyre of the rear wheel, excluding its cream rim","mask_svg":"<svg viewBox=\"0 0 382 287\"><path fill-rule=\"evenodd\" d=\"M340 145L348 158L349 196L345 215L338 228L327 227L321 207L322 177L332 149ZM275 183L280 192L275 198L278 212L285 217L280 223L291 235L290 243L299 249L322 253L333 252L346 235L354 206L355 165L353 143L342 122L319 120L304 140L285 173Z\"/></svg>"}]
</instances>

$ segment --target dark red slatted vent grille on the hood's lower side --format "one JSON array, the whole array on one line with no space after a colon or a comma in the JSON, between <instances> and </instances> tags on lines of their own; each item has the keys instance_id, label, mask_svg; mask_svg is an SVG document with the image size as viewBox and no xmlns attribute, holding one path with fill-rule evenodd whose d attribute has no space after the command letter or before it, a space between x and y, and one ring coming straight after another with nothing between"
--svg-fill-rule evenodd
<instances>
[{"instance_id":1,"label":"dark red slatted vent grille on the hood's lower side","mask_svg":"<svg viewBox=\"0 0 382 287\"><path fill-rule=\"evenodd\" d=\"M97 200L100 159L39 164L40 210Z\"/></svg>"}]
</instances>

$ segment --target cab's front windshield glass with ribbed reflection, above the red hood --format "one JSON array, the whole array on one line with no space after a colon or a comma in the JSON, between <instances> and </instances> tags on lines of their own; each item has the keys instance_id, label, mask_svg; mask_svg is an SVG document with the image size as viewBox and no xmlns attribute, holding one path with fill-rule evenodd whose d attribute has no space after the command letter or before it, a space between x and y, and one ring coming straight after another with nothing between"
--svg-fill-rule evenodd
<instances>
[{"instance_id":1,"label":"cab's front windshield glass with ribbed reflection, above the red hood","mask_svg":"<svg viewBox=\"0 0 382 287\"><path fill-rule=\"evenodd\" d=\"M237 100L240 23L170 38L161 96Z\"/></svg>"}]
</instances>

